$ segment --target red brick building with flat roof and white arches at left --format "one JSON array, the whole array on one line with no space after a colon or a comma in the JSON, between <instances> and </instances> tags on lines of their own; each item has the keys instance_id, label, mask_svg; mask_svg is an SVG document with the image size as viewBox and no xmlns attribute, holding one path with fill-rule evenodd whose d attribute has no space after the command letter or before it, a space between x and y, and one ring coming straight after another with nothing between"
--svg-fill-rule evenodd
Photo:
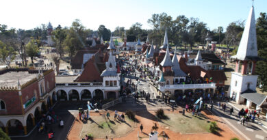
<instances>
[{"instance_id":1,"label":"red brick building with flat roof and white arches at left","mask_svg":"<svg viewBox=\"0 0 267 140\"><path fill-rule=\"evenodd\" d=\"M8 135L27 135L55 103L53 70L0 70L0 127Z\"/></svg>"}]
</instances>

